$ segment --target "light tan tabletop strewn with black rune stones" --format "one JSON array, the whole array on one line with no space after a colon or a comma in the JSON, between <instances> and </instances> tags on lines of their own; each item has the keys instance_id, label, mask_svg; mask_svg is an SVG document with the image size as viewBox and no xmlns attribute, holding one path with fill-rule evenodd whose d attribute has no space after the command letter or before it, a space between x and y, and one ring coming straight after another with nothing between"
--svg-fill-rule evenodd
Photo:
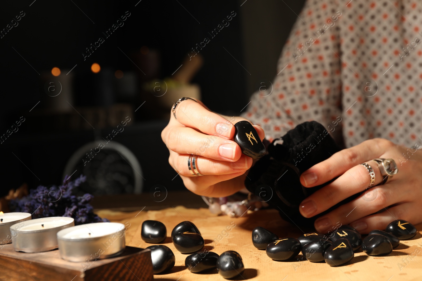
<instances>
[{"instance_id":1,"label":"light tan tabletop strewn with black rune stones","mask_svg":"<svg viewBox=\"0 0 422 281\"><path fill-rule=\"evenodd\" d=\"M126 244L141 248L152 245L141 240L140 227L144 220L154 219L163 222L167 227L168 236L175 225L189 220L199 228L205 240L206 249L217 254L234 250L241 255L246 269L242 276L234 280L422 280L422 224L416 225L419 233L412 240L400 241L400 246L388 256L371 257L359 252L355 253L353 260L345 265L331 267L324 262L309 262L301 254L287 262L273 261L265 254L265 251L258 250L252 245L252 229L257 226L265 227L278 234L279 237L298 237L303 234L303 231L311 231L307 229L301 231L298 227L283 221L276 210L248 211L239 218L216 216L206 208L187 209L182 206L139 211L124 213L100 210L97 213L114 222L129 222ZM232 226L230 231L227 231L227 226ZM170 237L167 237L163 244L172 249L176 256L176 265L167 274L154 275L154 279L162 281L225 280L216 270L208 274L189 272L184 266L187 255L176 250Z\"/></svg>"}]
</instances>

